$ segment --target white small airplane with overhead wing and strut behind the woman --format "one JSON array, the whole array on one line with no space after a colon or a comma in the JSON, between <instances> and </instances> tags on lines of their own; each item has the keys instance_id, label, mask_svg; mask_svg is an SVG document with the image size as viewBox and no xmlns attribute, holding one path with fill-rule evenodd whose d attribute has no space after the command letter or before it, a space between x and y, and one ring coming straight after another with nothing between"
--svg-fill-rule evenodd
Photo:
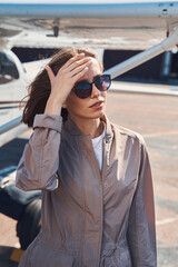
<instances>
[{"instance_id":1,"label":"white small airplane with overhead wing and strut behind the woman","mask_svg":"<svg viewBox=\"0 0 178 267\"><path fill-rule=\"evenodd\" d=\"M0 0L0 146L27 129L27 73L12 47L145 50L107 70L115 78L177 43L178 1Z\"/></svg>"}]
</instances>

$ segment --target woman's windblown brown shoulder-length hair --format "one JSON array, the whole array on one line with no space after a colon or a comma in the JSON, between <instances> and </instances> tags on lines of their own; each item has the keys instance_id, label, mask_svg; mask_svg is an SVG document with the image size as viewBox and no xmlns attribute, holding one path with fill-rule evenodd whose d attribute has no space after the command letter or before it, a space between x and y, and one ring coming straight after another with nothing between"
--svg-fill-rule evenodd
<instances>
[{"instance_id":1,"label":"woman's windblown brown shoulder-length hair","mask_svg":"<svg viewBox=\"0 0 178 267\"><path fill-rule=\"evenodd\" d=\"M57 75L58 70L72 57L75 57L78 53L83 52L88 57L96 58L96 55L85 48L63 48L59 50L51 59L51 61L48 63L50 68L52 69L53 73ZM102 65L100 63L101 69ZM28 100L24 102L24 105L20 103L20 108L24 106L22 120L21 122L27 123L28 127L32 127L33 119L37 113L43 113L46 109L46 103L48 101L48 98L50 96L51 86L50 80L47 73L47 70L43 69L41 72L37 75L34 80L29 85L28 87ZM24 99L23 98L23 99ZM22 99L22 100L23 100ZM21 102L22 102L21 100ZM68 111L67 109L61 110L61 116L63 118L63 121L68 118Z\"/></svg>"}]
</instances>

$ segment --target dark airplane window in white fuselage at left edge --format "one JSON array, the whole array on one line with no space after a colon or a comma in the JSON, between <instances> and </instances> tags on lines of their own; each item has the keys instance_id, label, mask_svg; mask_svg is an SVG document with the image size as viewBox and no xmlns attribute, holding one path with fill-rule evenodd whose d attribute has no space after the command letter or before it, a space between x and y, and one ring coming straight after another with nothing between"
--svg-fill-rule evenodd
<instances>
[{"instance_id":1,"label":"dark airplane window in white fuselage at left edge","mask_svg":"<svg viewBox=\"0 0 178 267\"><path fill-rule=\"evenodd\" d=\"M13 58L4 52L0 52L0 85L10 82L19 78L19 72Z\"/></svg>"}]
</instances>

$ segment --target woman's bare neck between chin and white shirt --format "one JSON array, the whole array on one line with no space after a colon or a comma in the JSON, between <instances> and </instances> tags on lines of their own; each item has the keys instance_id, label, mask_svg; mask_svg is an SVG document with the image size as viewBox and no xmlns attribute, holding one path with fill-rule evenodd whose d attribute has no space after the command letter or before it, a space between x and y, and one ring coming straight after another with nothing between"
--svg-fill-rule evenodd
<instances>
[{"instance_id":1,"label":"woman's bare neck between chin and white shirt","mask_svg":"<svg viewBox=\"0 0 178 267\"><path fill-rule=\"evenodd\" d=\"M82 119L70 117L75 125L79 128L82 135L91 134L91 138L100 136L103 131L103 121L97 119Z\"/></svg>"}]
</instances>

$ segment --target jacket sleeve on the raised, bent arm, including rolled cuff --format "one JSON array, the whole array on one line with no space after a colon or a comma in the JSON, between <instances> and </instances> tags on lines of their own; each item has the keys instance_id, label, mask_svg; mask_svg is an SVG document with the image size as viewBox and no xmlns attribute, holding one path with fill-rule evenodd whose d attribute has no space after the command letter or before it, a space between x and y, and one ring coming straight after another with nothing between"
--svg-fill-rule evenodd
<instances>
[{"instance_id":1,"label":"jacket sleeve on the raised, bent arm, including rolled cuff","mask_svg":"<svg viewBox=\"0 0 178 267\"><path fill-rule=\"evenodd\" d=\"M59 146L62 117L36 115L33 132L24 147L16 174L22 190L55 190L58 187Z\"/></svg>"}]
</instances>

